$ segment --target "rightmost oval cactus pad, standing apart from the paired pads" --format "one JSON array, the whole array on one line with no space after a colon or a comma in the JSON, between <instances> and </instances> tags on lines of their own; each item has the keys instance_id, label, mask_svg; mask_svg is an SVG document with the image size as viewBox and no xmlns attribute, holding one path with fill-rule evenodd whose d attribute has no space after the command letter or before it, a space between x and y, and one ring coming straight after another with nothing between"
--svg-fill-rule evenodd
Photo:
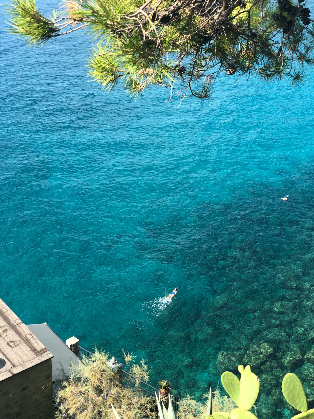
<instances>
[{"instance_id":1,"label":"rightmost oval cactus pad, standing apart from the paired pads","mask_svg":"<svg viewBox=\"0 0 314 419\"><path fill-rule=\"evenodd\" d=\"M303 390L303 386L301 384L301 381L295 374L293 374L292 372L289 372L283 377L283 380L281 383L281 389L282 389L283 397L286 399L286 401L289 404L291 404L291 406L293 406L295 409L301 412L307 411L308 407L307 407L307 401L306 401L306 396ZM294 417L296 418L297 416L299 419L299 415L296 415ZM307 417L307 416L304 416L304 417Z\"/></svg>"}]
</instances>

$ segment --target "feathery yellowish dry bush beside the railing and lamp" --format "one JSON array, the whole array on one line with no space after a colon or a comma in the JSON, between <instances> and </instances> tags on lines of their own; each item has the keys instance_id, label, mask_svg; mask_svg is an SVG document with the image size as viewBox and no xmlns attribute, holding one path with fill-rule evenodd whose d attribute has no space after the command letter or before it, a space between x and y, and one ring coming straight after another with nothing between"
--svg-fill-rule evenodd
<instances>
[{"instance_id":1,"label":"feathery yellowish dry bush beside the railing and lamp","mask_svg":"<svg viewBox=\"0 0 314 419\"><path fill-rule=\"evenodd\" d=\"M118 374L108 367L108 354L95 351L79 365L72 365L72 374L59 391L61 409L56 419L113 419L111 403L121 419L152 418L154 398L124 386ZM142 368L142 364L140 365Z\"/></svg>"}]
</instances>

